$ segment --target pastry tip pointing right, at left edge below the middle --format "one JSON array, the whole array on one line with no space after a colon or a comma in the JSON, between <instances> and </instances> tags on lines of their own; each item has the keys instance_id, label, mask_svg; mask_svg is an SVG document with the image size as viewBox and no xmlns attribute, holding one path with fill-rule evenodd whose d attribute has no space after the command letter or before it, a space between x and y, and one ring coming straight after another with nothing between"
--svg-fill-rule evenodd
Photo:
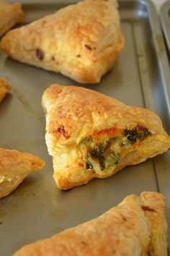
<instances>
[{"instance_id":1,"label":"pastry tip pointing right, at left edge below the middle","mask_svg":"<svg viewBox=\"0 0 170 256\"><path fill-rule=\"evenodd\" d=\"M44 165L35 155L0 148L0 198L9 195L28 174Z\"/></svg>"}]
</instances>

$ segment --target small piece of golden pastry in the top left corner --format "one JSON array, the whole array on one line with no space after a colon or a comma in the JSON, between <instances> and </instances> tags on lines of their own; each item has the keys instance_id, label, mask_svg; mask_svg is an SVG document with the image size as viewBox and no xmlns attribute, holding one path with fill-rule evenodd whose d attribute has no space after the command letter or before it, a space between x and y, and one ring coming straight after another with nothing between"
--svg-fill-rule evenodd
<instances>
[{"instance_id":1,"label":"small piece of golden pastry in the top left corner","mask_svg":"<svg viewBox=\"0 0 170 256\"><path fill-rule=\"evenodd\" d=\"M24 12L20 3L0 1L0 37L14 25L23 21Z\"/></svg>"}]
</instances>

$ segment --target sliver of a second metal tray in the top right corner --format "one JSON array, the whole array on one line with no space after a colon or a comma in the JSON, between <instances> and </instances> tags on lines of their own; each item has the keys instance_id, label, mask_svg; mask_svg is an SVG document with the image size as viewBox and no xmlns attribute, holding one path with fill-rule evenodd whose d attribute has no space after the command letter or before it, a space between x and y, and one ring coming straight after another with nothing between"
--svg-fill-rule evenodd
<instances>
[{"instance_id":1,"label":"sliver of a second metal tray in the top right corner","mask_svg":"<svg viewBox=\"0 0 170 256\"><path fill-rule=\"evenodd\" d=\"M166 48L169 54L170 61L170 1L166 1L160 11L161 27L166 41Z\"/></svg>"}]
</instances>

